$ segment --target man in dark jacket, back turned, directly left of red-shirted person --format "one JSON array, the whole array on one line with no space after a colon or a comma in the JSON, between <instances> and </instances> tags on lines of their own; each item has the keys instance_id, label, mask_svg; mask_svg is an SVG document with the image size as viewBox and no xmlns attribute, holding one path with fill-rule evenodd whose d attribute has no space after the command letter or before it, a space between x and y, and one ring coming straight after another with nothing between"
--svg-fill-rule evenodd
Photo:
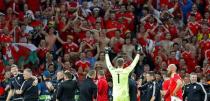
<instances>
[{"instance_id":1,"label":"man in dark jacket, back turned, directly left of red-shirted person","mask_svg":"<svg viewBox=\"0 0 210 101\"><path fill-rule=\"evenodd\" d=\"M93 101L97 97L97 85L93 79L96 77L96 72L90 70L87 78L83 80L79 86L80 96L79 101Z\"/></svg>"}]
</instances>

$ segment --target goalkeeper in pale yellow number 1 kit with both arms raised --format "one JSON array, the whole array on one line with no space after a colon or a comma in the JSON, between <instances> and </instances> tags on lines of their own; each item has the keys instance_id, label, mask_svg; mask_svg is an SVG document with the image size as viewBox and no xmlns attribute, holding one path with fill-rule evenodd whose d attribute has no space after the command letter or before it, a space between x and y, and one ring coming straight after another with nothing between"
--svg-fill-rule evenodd
<instances>
[{"instance_id":1,"label":"goalkeeper in pale yellow number 1 kit with both arms raised","mask_svg":"<svg viewBox=\"0 0 210 101\"><path fill-rule=\"evenodd\" d=\"M109 48L105 48L105 60L106 65L112 75L113 79L113 101L130 101L129 97L129 86L128 86L128 76L130 72L134 69L138 60L140 58L140 50L141 48L137 48L137 55L133 62L126 68L123 69L124 59L118 58L116 60L116 68L112 66L109 59Z\"/></svg>"}]
</instances>

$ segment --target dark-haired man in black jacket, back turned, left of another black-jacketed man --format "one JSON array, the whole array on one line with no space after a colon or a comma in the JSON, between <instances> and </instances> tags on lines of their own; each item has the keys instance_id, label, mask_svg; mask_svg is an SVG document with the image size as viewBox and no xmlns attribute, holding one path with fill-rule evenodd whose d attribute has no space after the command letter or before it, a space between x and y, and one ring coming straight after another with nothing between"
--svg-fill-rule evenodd
<instances>
[{"instance_id":1,"label":"dark-haired man in black jacket, back turned, left of another black-jacketed man","mask_svg":"<svg viewBox=\"0 0 210 101\"><path fill-rule=\"evenodd\" d=\"M72 80L72 74L69 71L65 71L64 81L58 88L56 101L75 101L74 97L77 89L77 82Z\"/></svg>"}]
</instances>

